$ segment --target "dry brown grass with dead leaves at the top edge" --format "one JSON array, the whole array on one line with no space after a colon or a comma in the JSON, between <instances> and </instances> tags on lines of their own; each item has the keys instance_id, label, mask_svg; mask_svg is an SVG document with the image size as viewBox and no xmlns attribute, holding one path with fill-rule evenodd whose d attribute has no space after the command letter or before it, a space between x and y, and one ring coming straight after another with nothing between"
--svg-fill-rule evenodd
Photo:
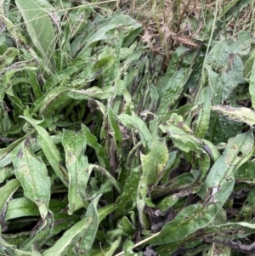
<instances>
[{"instance_id":1,"label":"dry brown grass with dead leaves at the top edge","mask_svg":"<svg viewBox=\"0 0 255 256\"><path fill-rule=\"evenodd\" d=\"M200 31L213 19L217 6L217 19L224 22L224 12L233 0L126 0L120 8L144 26L141 41L147 43L155 54L169 60L178 45L197 48L194 39L199 39ZM235 37L240 31L252 31L255 27L255 4L250 3L241 11L237 19L233 17L224 24L224 37ZM209 38L207 38L209 39Z\"/></svg>"}]
</instances>

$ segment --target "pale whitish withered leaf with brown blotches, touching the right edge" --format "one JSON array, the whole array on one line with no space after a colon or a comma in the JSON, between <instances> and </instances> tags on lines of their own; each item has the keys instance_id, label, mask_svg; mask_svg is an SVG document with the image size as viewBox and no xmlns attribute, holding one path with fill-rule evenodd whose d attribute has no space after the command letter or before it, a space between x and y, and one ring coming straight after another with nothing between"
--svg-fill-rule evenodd
<instances>
[{"instance_id":1,"label":"pale whitish withered leaf with brown blotches, touching the right edge","mask_svg":"<svg viewBox=\"0 0 255 256\"><path fill-rule=\"evenodd\" d=\"M246 122L250 126L255 124L255 111L246 107L234 108L229 105L212 105L211 110L236 122Z\"/></svg>"}]
</instances>

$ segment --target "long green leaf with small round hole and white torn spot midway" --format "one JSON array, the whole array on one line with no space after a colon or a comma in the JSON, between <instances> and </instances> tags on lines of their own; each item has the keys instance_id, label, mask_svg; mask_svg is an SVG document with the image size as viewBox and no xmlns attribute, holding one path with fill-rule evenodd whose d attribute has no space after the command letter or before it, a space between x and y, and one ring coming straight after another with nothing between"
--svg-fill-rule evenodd
<instances>
[{"instance_id":1,"label":"long green leaf with small round hole and white torn spot midway","mask_svg":"<svg viewBox=\"0 0 255 256\"><path fill-rule=\"evenodd\" d=\"M223 156L212 166L207 176L207 198L203 204L193 204L184 208L162 228L160 234L150 241L151 245L178 242L189 234L200 230L210 222L229 198L235 184L235 166L253 151L252 129L245 134L238 134L228 145ZM240 153L239 153L240 152Z\"/></svg>"}]
</instances>

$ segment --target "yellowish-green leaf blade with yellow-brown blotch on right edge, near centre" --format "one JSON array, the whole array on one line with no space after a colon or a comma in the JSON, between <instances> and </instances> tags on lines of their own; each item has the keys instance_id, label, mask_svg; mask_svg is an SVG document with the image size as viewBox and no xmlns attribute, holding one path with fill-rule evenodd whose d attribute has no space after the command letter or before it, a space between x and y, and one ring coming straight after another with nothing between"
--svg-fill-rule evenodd
<instances>
[{"instance_id":1,"label":"yellowish-green leaf blade with yellow-brown blotch on right edge, near centre","mask_svg":"<svg viewBox=\"0 0 255 256\"><path fill-rule=\"evenodd\" d=\"M146 184L156 185L167 163L167 146L154 139L149 154L142 154L140 157Z\"/></svg>"}]
</instances>

